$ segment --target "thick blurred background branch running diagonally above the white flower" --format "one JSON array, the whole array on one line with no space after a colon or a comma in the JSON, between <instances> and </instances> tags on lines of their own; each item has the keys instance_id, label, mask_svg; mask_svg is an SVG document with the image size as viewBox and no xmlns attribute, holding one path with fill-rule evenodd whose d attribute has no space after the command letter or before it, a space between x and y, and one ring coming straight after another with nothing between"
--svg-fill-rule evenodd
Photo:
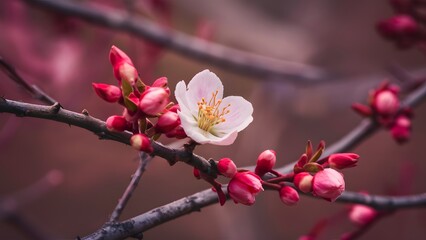
<instances>
[{"instance_id":1,"label":"thick blurred background branch running diagonally above the white flower","mask_svg":"<svg viewBox=\"0 0 426 240\"><path fill-rule=\"evenodd\" d=\"M164 29L159 24L147 19L104 6L90 6L75 1L24 1L54 11L61 16L68 15L92 24L126 32L174 50L183 56L240 73L251 74L263 80L285 79L298 83L313 83L331 78L329 74L317 67L260 56L204 41L176 30Z\"/></svg>"}]
</instances>

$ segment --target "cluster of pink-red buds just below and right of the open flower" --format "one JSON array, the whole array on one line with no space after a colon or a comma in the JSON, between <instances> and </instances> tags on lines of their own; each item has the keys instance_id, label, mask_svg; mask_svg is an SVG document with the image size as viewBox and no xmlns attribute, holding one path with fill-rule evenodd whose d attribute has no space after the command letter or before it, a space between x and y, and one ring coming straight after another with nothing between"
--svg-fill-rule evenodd
<instances>
[{"instance_id":1,"label":"cluster of pink-red buds just below and right of the open flower","mask_svg":"<svg viewBox=\"0 0 426 240\"><path fill-rule=\"evenodd\" d=\"M338 170L356 166L359 156L354 153L337 153L321 158L324 148L325 143L321 141L314 152L308 141L306 152L295 164L294 171L285 175L274 170L277 161L274 150L265 150L259 155L253 172L237 169L229 158L223 158L214 165L219 175L230 178L228 194L235 203L253 205L256 195L264 188L277 191L280 200L289 206L299 201L298 191L332 202L345 190L343 175ZM220 203L225 203L225 194L215 178L200 174L197 169L194 169L194 175L211 183Z\"/></svg>"}]
</instances>

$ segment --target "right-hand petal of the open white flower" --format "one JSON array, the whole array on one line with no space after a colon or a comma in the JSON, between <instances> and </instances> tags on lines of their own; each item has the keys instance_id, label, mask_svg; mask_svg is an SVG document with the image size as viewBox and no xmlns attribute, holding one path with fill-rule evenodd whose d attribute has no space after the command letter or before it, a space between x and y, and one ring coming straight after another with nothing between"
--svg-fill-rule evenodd
<instances>
[{"instance_id":1,"label":"right-hand petal of the open white flower","mask_svg":"<svg viewBox=\"0 0 426 240\"><path fill-rule=\"evenodd\" d=\"M241 131L252 121L253 106L243 97L229 96L223 99L221 106L230 104L230 112L225 115L226 121L216 125L213 129L214 134L221 135L225 132Z\"/></svg>"}]
</instances>

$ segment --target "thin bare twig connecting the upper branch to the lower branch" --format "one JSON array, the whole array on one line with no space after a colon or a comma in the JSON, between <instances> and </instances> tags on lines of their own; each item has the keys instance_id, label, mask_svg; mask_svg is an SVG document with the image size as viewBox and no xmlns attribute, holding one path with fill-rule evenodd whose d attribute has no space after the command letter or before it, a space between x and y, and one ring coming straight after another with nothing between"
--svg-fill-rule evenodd
<instances>
[{"instance_id":1,"label":"thin bare twig connecting the upper branch to the lower branch","mask_svg":"<svg viewBox=\"0 0 426 240\"><path fill-rule=\"evenodd\" d=\"M117 206L115 207L114 211L111 214L111 217L109 219L110 222L117 222L120 218L121 213L123 212L124 208L127 205L127 202L130 200L133 192L135 191L136 187L138 186L139 180L142 177L142 174L145 172L146 166L152 159L151 156L148 154L141 152L139 154L139 166L138 169L136 169L136 172L132 176L132 180L130 181L129 185L126 188L126 191L124 191L123 196L121 196L120 200L118 201Z\"/></svg>"}]
</instances>

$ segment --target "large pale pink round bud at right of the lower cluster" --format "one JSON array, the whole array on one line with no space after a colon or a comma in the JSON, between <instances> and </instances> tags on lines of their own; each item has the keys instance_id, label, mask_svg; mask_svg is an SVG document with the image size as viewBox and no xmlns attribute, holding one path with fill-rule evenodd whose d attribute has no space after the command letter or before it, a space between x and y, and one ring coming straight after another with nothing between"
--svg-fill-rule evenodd
<instances>
[{"instance_id":1,"label":"large pale pink round bud at right of the lower cluster","mask_svg":"<svg viewBox=\"0 0 426 240\"><path fill-rule=\"evenodd\" d=\"M343 175L332 168L317 172L312 179L313 195L322 197L327 201L334 202L344 190Z\"/></svg>"}]
</instances>

